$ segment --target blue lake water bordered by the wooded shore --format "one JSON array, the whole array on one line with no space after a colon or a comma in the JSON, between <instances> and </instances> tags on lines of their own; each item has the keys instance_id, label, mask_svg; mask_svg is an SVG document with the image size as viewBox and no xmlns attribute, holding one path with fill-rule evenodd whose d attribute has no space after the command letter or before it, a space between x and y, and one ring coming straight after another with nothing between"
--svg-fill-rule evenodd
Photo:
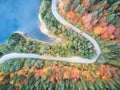
<instances>
[{"instance_id":1,"label":"blue lake water bordered by the wooded shore","mask_svg":"<svg viewBox=\"0 0 120 90\"><path fill-rule=\"evenodd\" d=\"M39 30L40 3L41 0L0 0L0 43L4 43L15 31L33 39L50 41Z\"/></svg>"}]
</instances>

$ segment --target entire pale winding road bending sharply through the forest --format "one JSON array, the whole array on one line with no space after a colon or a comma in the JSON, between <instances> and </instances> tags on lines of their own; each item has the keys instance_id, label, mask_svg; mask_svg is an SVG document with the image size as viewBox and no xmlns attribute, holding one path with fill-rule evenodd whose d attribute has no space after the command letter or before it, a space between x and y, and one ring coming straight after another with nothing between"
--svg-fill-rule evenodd
<instances>
[{"instance_id":1,"label":"entire pale winding road bending sharply through the forest","mask_svg":"<svg viewBox=\"0 0 120 90\"><path fill-rule=\"evenodd\" d=\"M64 20L60 16L60 14L57 12L56 5L57 5L57 0L52 0L52 13L55 16L55 18L63 25L69 27L71 30L74 30L75 32L79 33L80 35L88 39L96 48L96 56L93 57L92 59L85 59L81 57L67 58L67 57L44 56L44 55L37 55L37 54L31 54L31 53L10 53L10 54L7 54L1 57L0 63L6 60L9 60L9 59L14 59L14 58L36 58L36 59L67 61L67 62L76 62L76 63L92 63L98 59L99 55L101 54L101 50L97 42L92 37L90 37L88 34L84 33L82 30L76 28L75 26L71 25L66 20Z\"/></svg>"}]
</instances>

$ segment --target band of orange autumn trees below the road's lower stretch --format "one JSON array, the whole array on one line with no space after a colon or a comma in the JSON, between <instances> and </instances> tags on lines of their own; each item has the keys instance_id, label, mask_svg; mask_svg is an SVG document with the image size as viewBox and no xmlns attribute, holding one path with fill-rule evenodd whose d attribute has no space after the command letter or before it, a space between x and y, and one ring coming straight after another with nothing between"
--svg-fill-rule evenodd
<instances>
[{"instance_id":1,"label":"band of orange autumn trees below the road's lower stretch","mask_svg":"<svg viewBox=\"0 0 120 90\"><path fill-rule=\"evenodd\" d=\"M84 69L87 68L87 65L83 65ZM93 69L95 68L95 64L93 64ZM109 80L109 78L112 78L116 75L118 75L118 68L116 67L110 67L109 65L99 65L100 70L92 71L93 74L95 74L96 77L101 78L105 82ZM114 73L109 74L110 68L114 70ZM50 73L51 71L51 73ZM27 73L26 73L27 72ZM14 82L14 80L10 80L11 85L15 85L15 87L20 87L22 84L27 83L29 74L34 73L33 77L41 77L44 78L46 75L50 76L50 82L52 83L58 83L61 79L67 80L67 79L75 79L75 81L80 80L80 76L85 77L87 82L94 83L96 81L96 78L91 78L91 71L82 71L74 67L68 67L68 66L48 66L41 69L36 68L23 68L21 70L18 70L11 73L1 73L0 74L0 85L4 85L9 81L10 79L18 76L24 76L23 81ZM4 79L4 75L8 75L8 78ZM4 79L4 80L3 80Z\"/></svg>"}]
</instances>

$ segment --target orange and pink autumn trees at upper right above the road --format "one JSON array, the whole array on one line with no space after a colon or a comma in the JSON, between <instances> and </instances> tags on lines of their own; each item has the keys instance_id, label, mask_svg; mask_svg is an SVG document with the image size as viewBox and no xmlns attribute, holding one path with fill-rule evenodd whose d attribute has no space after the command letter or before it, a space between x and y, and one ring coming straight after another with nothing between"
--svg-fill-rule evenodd
<instances>
[{"instance_id":1,"label":"orange and pink autumn trees at upper right above the road","mask_svg":"<svg viewBox=\"0 0 120 90\"><path fill-rule=\"evenodd\" d=\"M74 3L71 3L69 12L65 12L63 9L66 7L67 2L70 2L70 0L62 0L59 3L59 10L60 14L64 16L67 20L72 20L72 24L76 25L79 22L82 22L82 25L84 26L84 29L86 30L92 30L94 32L94 35L100 36L103 40L114 40L116 39L116 36L118 35L119 31L117 30L116 26L112 23L109 23L106 21L106 17L109 14L107 9L109 8L109 4L106 3L103 7L102 13L100 18L98 15L96 15L96 12L94 10L98 9L99 6L103 4L102 1L99 3L93 5L90 7L89 12L84 12L84 14L80 14L76 12L76 8L74 8ZM75 2L75 1L74 1ZM89 6L90 0L83 0L81 2L81 6L87 10L87 7ZM79 7L79 5L78 5ZM77 7L77 9L78 9ZM118 6L116 10L119 10ZM102 8L102 7L101 7ZM93 13L94 12L94 13ZM94 16L95 14L95 16ZM99 19L98 19L99 18ZM80 28L80 27L79 27Z\"/></svg>"}]
</instances>

